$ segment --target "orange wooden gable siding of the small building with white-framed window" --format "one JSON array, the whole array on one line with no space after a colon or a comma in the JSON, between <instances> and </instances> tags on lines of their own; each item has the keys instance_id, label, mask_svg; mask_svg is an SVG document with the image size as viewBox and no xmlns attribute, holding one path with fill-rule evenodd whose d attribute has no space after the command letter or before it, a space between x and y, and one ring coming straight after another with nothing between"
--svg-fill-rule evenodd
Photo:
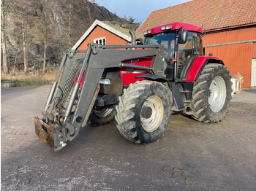
<instances>
[{"instance_id":1,"label":"orange wooden gable siding of the small building with white-framed window","mask_svg":"<svg viewBox=\"0 0 256 191\"><path fill-rule=\"evenodd\" d=\"M119 36L116 36L115 34L111 33L105 28L96 26L94 30L91 31L91 34L89 34L89 36L87 36L87 38L79 45L77 50L87 50L87 44L89 44L90 42L94 42L94 39L97 39L99 37L104 37L104 36L106 37L107 45L127 44L126 40L120 38Z\"/></svg>"}]
</instances>

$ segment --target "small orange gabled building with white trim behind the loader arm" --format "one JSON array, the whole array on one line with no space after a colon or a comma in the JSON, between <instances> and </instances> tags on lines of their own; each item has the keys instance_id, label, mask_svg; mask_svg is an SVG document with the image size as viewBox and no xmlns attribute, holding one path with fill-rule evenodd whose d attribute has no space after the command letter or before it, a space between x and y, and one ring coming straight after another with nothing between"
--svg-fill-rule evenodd
<instances>
[{"instance_id":1,"label":"small orange gabled building with white trim behind the loader arm","mask_svg":"<svg viewBox=\"0 0 256 191\"><path fill-rule=\"evenodd\" d=\"M135 35L136 38L143 38L143 34L138 32L135 32ZM102 45L124 45L131 42L131 36L129 29L95 20L74 47L72 47L72 50L87 50L87 44L91 42Z\"/></svg>"}]
</instances>

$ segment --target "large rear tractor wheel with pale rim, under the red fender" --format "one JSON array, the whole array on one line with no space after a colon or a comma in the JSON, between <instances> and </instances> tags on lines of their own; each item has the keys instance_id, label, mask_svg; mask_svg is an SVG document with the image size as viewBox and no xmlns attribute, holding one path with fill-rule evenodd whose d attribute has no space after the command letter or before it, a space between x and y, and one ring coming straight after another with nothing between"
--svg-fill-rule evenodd
<instances>
[{"instance_id":1,"label":"large rear tractor wheel with pale rim, under the red fender","mask_svg":"<svg viewBox=\"0 0 256 191\"><path fill-rule=\"evenodd\" d=\"M226 66L209 63L195 82L192 93L194 114L200 122L222 121L230 106L230 74Z\"/></svg>"}]
</instances>

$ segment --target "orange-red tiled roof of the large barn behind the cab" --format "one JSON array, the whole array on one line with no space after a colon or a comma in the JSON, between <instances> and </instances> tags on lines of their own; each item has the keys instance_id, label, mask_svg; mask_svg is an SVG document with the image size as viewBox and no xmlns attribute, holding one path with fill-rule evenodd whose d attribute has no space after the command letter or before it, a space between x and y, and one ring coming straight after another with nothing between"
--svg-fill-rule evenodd
<instances>
[{"instance_id":1,"label":"orange-red tiled roof of the large barn behind the cab","mask_svg":"<svg viewBox=\"0 0 256 191\"><path fill-rule=\"evenodd\" d=\"M151 12L138 32L167 23L202 26L206 31L256 24L256 0L194 0Z\"/></svg>"}]
</instances>

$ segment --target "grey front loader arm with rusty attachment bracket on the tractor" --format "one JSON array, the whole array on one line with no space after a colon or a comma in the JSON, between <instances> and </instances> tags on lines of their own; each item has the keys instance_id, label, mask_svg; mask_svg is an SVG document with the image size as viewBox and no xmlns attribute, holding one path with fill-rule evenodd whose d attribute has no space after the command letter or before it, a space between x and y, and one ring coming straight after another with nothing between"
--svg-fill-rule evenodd
<instances>
[{"instance_id":1,"label":"grey front loader arm with rusty attachment bracket on the tractor","mask_svg":"<svg viewBox=\"0 0 256 191\"><path fill-rule=\"evenodd\" d=\"M78 136L86 126L91 109L99 93L99 79L104 69L129 67L121 61L153 56L151 66L135 66L148 69L152 74L164 77L164 47L160 45L99 45L88 44L87 52L65 52L56 79L50 89L42 120L35 117L35 132L54 151L59 151ZM86 69L86 71L85 71ZM84 77L83 72L85 71ZM78 80L75 82L76 74ZM83 85L79 90L80 80ZM61 82L58 85L59 78ZM58 91L56 93L56 89ZM53 104L52 104L53 103ZM52 108L49 109L50 104ZM50 112L48 112L50 110Z\"/></svg>"}]
</instances>

